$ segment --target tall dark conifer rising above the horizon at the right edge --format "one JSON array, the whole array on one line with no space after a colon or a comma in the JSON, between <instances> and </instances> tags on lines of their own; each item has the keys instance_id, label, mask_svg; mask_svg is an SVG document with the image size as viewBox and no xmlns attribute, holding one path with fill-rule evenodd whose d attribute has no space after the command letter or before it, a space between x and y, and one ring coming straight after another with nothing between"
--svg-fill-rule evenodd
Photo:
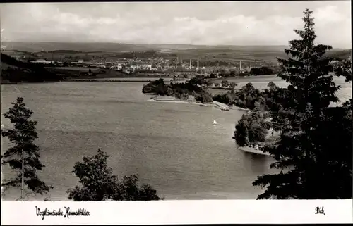
<instances>
[{"instance_id":1,"label":"tall dark conifer rising above the horizon at the right edge","mask_svg":"<svg viewBox=\"0 0 353 226\"><path fill-rule=\"evenodd\" d=\"M304 11L300 39L289 41L288 59L278 59L289 83L282 109L271 113L279 139L263 151L274 156L271 168L280 173L262 175L253 182L265 188L258 199L352 199L352 114L337 102L340 87L333 82L330 46L315 44L311 14Z\"/></svg>"}]
</instances>

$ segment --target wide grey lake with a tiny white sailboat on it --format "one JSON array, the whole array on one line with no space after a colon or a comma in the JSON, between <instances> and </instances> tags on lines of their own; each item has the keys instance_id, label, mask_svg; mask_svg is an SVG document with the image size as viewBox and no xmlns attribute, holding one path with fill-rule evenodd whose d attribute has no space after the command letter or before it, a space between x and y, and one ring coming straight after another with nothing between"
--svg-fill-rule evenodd
<instances>
[{"instance_id":1,"label":"wide grey lake with a tiny white sailboat on it","mask_svg":"<svg viewBox=\"0 0 353 226\"><path fill-rule=\"evenodd\" d=\"M261 194L252 182L273 173L273 158L237 149L232 139L242 111L187 103L148 101L143 82L57 82L1 86L1 113L23 96L37 132L41 161L40 179L52 184L53 201L67 199L66 190L78 184L71 172L83 156L97 149L109 154L116 175L138 173L165 199L256 199ZM258 85L253 83L255 87ZM351 96L351 85L341 93ZM345 96L343 95L343 96ZM342 95L341 95L342 96ZM213 125L216 120L218 125ZM4 120L8 126L8 120ZM3 139L1 154L7 149ZM4 167L4 178L12 172ZM4 200L20 196L11 189ZM30 200L43 200L31 196Z\"/></svg>"}]
</instances>

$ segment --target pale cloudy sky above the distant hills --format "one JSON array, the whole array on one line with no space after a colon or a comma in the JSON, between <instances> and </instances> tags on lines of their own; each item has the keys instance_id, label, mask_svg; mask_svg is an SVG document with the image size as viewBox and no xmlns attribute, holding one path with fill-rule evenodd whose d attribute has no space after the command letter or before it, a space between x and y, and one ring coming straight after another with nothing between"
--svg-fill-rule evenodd
<instances>
[{"instance_id":1,"label":"pale cloudy sky above the distant hills","mask_svg":"<svg viewBox=\"0 0 353 226\"><path fill-rule=\"evenodd\" d=\"M3 42L287 45L315 18L320 44L352 48L350 1L0 4Z\"/></svg>"}]
</instances>

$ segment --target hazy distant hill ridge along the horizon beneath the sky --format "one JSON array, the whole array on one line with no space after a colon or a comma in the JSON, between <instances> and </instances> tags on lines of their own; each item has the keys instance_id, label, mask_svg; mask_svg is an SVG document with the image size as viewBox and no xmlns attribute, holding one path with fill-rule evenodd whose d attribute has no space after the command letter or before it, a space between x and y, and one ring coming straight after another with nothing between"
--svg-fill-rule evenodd
<instances>
[{"instance_id":1,"label":"hazy distant hill ridge along the horizon beneath the sky","mask_svg":"<svg viewBox=\"0 0 353 226\"><path fill-rule=\"evenodd\" d=\"M121 44L121 43L73 43L73 42L7 42L4 52L23 51L28 55L46 52L53 54L123 54L125 57L134 53L154 53L189 56L205 56L203 59L229 61L232 59L276 61L276 57L286 58L287 46L206 46L190 44ZM130 55L129 55L130 54ZM154 54L152 54L154 56ZM337 59L348 58L351 49L333 49L327 55ZM123 56L121 55L121 56ZM12 55L11 55L12 56ZM147 57L146 54L136 55ZM149 57L150 55L148 55ZM164 56L164 55L163 55ZM51 56L47 56L50 58ZM82 57L82 56L80 56Z\"/></svg>"}]
</instances>

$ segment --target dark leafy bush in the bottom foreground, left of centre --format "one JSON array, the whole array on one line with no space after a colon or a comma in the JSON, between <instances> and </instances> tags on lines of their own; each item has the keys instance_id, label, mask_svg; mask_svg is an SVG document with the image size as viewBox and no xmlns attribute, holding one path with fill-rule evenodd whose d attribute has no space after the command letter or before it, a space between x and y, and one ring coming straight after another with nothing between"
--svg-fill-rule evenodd
<instances>
[{"instance_id":1,"label":"dark leafy bush in the bottom foreground, left of centre","mask_svg":"<svg viewBox=\"0 0 353 226\"><path fill-rule=\"evenodd\" d=\"M138 184L138 175L124 177L120 182L107 165L109 156L98 149L92 157L83 157L83 162L74 165L73 173L82 187L68 189L68 199L73 201L149 201L160 200L150 185Z\"/></svg>"}]
</instances>

